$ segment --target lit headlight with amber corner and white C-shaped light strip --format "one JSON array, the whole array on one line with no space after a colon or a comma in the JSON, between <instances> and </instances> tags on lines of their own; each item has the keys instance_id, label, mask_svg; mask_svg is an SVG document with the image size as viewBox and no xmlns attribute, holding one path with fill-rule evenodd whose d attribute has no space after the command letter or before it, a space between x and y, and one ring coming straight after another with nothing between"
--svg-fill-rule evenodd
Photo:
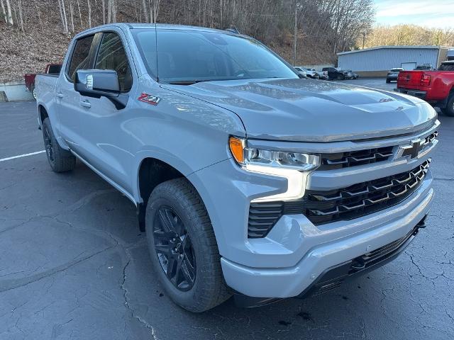
<instances>
[{"instance_id":1,"label":"lit headlight with amber corner and white C-shaped light strip","mask_svg":"<svg viewBox=\"0 0 454 340\"><path fill-rule=\"evenodd\" d=\"M246 147L244 139L237 137L230 137L229 147L233 158L243 169L287 179L287 191L284 193L255 198L252 202L297 200L303 197L309 171L320 164L320 157L316 154L250 148Z\"/></svg>"}]
</instances>

